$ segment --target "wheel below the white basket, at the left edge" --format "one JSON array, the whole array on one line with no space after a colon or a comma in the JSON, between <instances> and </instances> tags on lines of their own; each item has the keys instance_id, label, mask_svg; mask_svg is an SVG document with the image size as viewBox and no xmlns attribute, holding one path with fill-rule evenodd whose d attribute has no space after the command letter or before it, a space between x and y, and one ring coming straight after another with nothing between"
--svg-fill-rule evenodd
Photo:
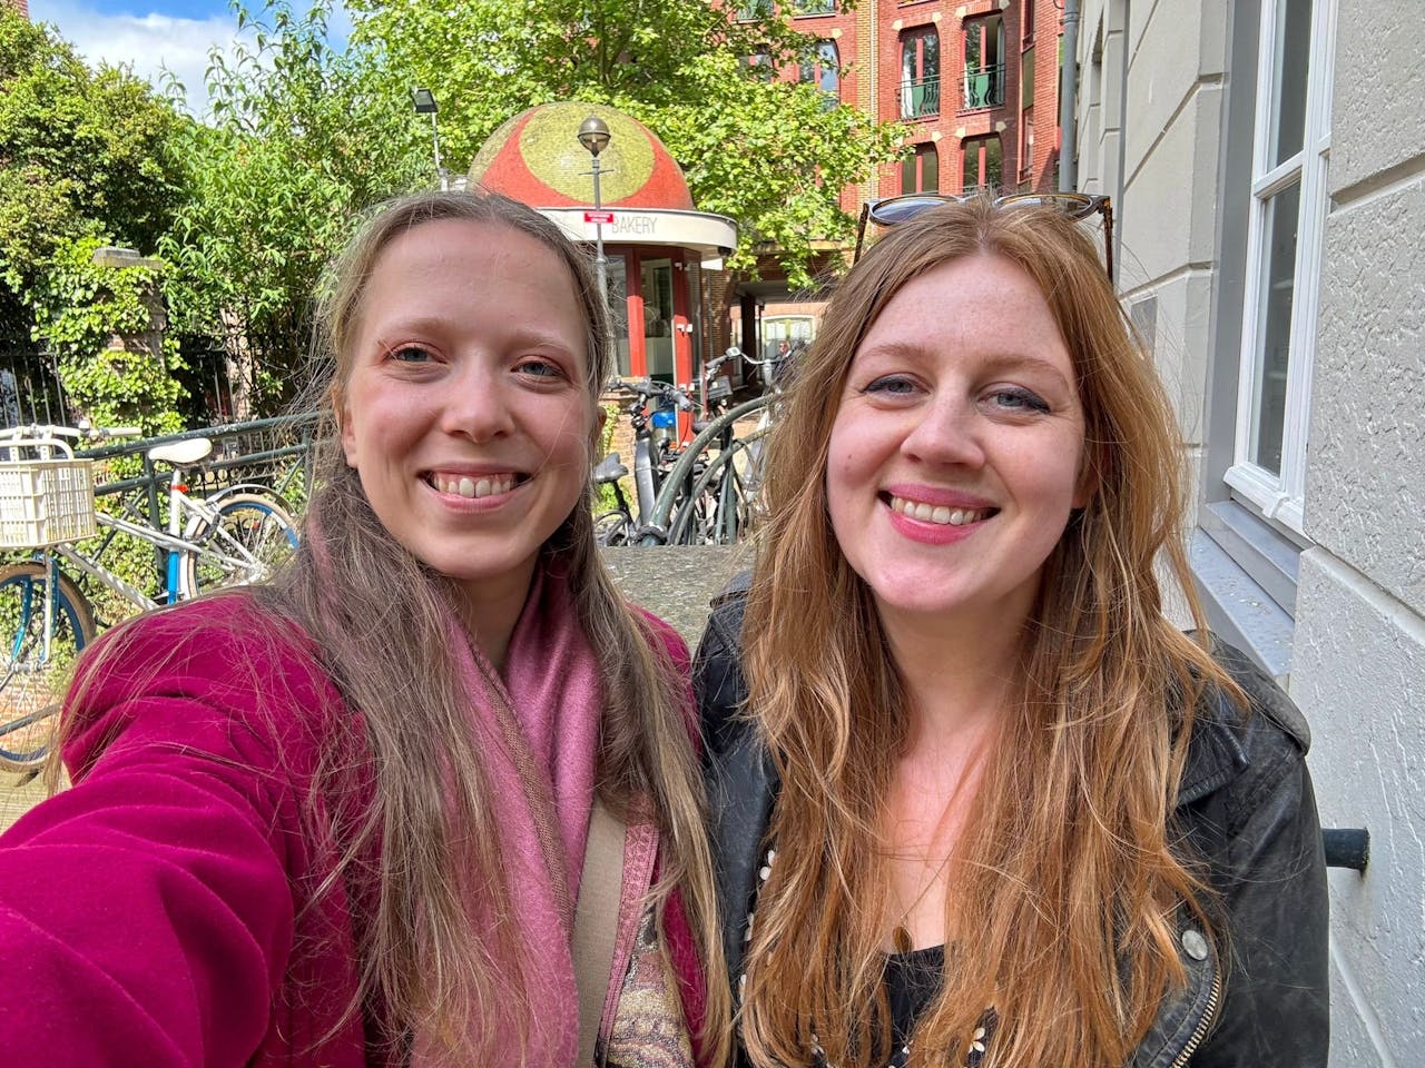
<instances>
[{"instance_id":1,"label":"wheel below the white basket, at the left edge","mask_svg":"<svg viewBox=\"0 0 1425 1068\"><path fill-rule=\"evenodd\" d=\"M0 568L0 768L44 760L74 659L94 637L84 594L67 575L54 574L54 625L46 649L46 564L28 560Z\"/></svg>"}]
</instances>

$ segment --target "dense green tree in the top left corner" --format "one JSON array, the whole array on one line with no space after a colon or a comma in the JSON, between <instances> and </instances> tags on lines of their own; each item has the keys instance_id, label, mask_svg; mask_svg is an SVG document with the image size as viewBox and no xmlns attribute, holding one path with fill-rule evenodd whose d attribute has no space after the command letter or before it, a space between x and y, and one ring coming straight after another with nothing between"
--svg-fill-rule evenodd
<instances>
[{"instance_id":1,"label":"dense green tree in the top left corner","mask_svg":"<svg viewBox=\"0 0 1425 1068\"><path fill-rule=\"evenodd\" d=\"M184 121L127 71L90 70L0 4L0 352L51 340L36 320L46 293L87 292L70 286L80 242L154 249L182 197L170 144ZM80 373L101 352L70 355Z\"/></svg>"}]
</instances>

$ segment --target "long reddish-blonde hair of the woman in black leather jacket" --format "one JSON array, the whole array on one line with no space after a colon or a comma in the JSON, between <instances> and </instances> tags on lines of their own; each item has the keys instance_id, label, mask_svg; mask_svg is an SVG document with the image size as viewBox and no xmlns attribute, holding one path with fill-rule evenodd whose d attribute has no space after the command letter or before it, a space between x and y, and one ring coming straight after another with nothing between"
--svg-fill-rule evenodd
<instances>
[{"instance_id":1,"label":"long reddish-blonde hair of the woman in black leather jacket","mask_svg":"<svg viewBox=\"0 0 1425 1068\"><path fill-rule=\"evenodd\" d=\"M912 1064L962 1062L986 1007L990 1064L1124 1064L1184 978L1177 903L1198 918L1210 906L1168 823L1204 685L1240 693L1161 614L1160 553L1201 628L1171 409L1072 221L988 199L936 208L891 231L838 289L768 449L742 631L748 705L781 778L741 1010L760 1064L808 1064L817 1045L835 1065L889 1054L879 827L905 691L832 533L828 440L852 357L891 298L978 253L1017 263L1049 303L1077 375L1093 496L1043 568L1020 695L952 856L946 930L960 937Z\"/></svg>"}]
</instances>

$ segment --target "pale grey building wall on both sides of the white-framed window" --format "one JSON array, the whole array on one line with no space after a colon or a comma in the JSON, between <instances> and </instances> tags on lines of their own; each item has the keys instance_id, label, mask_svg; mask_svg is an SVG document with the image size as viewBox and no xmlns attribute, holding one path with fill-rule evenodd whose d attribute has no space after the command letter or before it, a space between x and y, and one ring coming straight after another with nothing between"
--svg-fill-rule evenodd
<instances>
[{"instance_id":1,"label":"pale grey building wall on both sides of the white-framed window","mask_svg":"<svg viewBox=\"0 0 1425 1068\"><path fill-rule=\"evenodd\" d=\"M1267 3L1082 4L1080 187L1116 199L1120 289L1200 460L1200 524L1230 496ZM1285 597L1230 577L1244 604L1282 602L1277 674L1312 729L1322 823L1371 832L1367 873L1331 873L1331 1065L1396 1068L1425 1064L1425 21L1418 0L1314 7L1334 53L1304 537L1278 538Z\"/></svg>"}]
</instances>

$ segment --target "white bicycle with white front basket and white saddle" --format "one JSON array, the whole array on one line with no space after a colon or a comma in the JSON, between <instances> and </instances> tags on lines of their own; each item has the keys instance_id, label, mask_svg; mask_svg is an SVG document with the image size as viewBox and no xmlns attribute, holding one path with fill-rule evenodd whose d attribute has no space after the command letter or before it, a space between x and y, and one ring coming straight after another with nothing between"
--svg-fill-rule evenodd
<instances>
[{"instance_id":1,"label":"white bicycle with white front basket and white saddle","mask_svg":"<svg viewBox=\"0 0 1425 1068\"><path fill-rule=\"evenodd\" d=\"M162 600L174 602L234 582L265 578L296 547L296 527L284 504L261 486L234 486L194 498L184 470L212 451L208 439L148 450L172 467L168 528L95 511L93 461L76 459L67 439L104 441L135 437L131 427L27 426L0 431L0 548L34 550L31 560L0 568L0 621L13 627L0 651L0 766L33 769L47 752L68 671L95 632L95 615L73 571L140 609L158 607L137 587L98 562L118 533L168 553ZM76 543L108 534L94 553ZM60 561L71 571L60 568Z\"/></svg>"}]
</instances>

